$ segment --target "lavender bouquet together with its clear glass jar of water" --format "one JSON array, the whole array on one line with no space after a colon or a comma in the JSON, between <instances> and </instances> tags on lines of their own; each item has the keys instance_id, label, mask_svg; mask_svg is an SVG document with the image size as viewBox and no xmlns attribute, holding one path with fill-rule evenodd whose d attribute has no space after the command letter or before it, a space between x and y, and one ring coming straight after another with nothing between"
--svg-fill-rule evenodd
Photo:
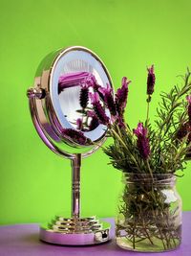
<instances>
[{"instance_id":1,"label":"lavender bouquet together with its clear glass jar of water","mask_svg":"<svg viewBox=\"0 0 191 256\"><path fill-rule=\"evenodd\" d=\"M87 119L77 120L77 124L80 130L103 124L113 138L113 143L103 151L123 173L117 244L139 251L162 251L176 248L181 238L181 202L175 179L183 174L191 156L191 73L187 70L181 86L160 93L157 119L151 125L149 107L156 77L153 65L147 70L146 118L138 122L137 128L132 129L125 122L131 82L127 78L122 79L116 94L109 85L103 88L96 80L82 86L80 105ZM78 136L85 141L80 132Z\"/></svg>"}]
</instances>

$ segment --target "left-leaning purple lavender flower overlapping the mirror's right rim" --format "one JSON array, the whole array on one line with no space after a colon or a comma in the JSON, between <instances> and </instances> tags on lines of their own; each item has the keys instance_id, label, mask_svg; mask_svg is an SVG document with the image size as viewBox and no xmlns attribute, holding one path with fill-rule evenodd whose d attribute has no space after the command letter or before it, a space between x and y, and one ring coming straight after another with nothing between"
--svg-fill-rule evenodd
<instances>
[{"instance_id":1,"label":"left-leaning purple lavender flower overlapping the mirror's right rim","mask_svg":"<svg viewBox=\"0 0 191 256\"><path fill-rule=\"evenodd\" d=\"M117 114L117 106L114 101L113 88L107 84L107 88L99 87L98 92L103 95L104 103L110 110L111 115L115 116Z\"/></svg>"}]
</instances>

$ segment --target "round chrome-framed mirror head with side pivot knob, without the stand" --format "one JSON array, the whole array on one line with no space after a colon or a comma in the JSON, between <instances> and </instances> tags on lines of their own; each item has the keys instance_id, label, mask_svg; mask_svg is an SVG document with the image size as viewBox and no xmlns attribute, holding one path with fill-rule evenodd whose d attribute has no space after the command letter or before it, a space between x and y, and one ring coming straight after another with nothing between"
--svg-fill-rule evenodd
<instances>
[{"instance_id":1,"label":"round chrome-framed mirror head with side pivot knob, without the stand","mask_svg":"<svg viewBox=\"0 0 191 256\"><path fill-rule=\"evenodd\" d=\"M70 47L43 59L28 97L34 126L52 151L85 157L101 145L106 127L95 124L88 94L107 84L112 86L105 65L87 48Z\"/></svg>"}]
</instances>

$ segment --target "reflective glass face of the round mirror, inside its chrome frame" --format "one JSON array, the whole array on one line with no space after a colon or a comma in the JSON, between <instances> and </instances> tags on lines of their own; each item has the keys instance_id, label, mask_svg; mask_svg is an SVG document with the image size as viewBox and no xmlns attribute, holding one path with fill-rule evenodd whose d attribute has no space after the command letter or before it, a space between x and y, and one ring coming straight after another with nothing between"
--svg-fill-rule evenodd
<instances>
[{"instance_id":1,"label":"reflective glass face of the round mirror, inside its chrome frame","mask_svg":"<svg viewBox=\"0 0 191 256\"><path fill-rule=\"evenodd\" d=\"M53 107L62 128L83 132L92 141L103 137L106 127L98 123L89 98L96 86L111 86L101 61L86 50L66 52L56 62L51 84Z\"/></svg>"}]
</instances>

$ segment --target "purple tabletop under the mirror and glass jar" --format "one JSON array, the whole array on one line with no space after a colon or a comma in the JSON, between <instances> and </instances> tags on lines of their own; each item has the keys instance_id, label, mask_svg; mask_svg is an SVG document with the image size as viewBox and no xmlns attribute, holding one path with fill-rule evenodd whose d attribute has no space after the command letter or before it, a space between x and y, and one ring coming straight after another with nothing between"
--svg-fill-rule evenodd
<instances>
[{"instance_id":1,"label":"purple tabletop under the mirror and glass jar","mask_svg":"<svg viewBox=\"0 0 191 256\"><path fill-rule=\"evenodd\" d=\"M112 223L114 236L114 219ZM183 212L182 243L174 251L143 253L121 249L115 239L106 244L89 246L62 246L45 244L38 240L38 224L15 224L0 226L0 256L191 256L191 212Z\"/></svg>"}]
</instances>

